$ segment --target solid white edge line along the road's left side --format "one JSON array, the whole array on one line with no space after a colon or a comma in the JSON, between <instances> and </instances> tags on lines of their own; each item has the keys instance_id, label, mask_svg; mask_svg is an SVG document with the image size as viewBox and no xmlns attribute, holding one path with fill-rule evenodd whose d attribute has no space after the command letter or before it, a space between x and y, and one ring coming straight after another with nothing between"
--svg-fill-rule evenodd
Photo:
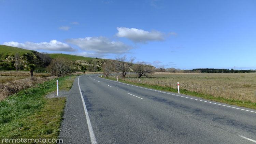
<instances>
[{"instance_id":1,"label":"solid white edge line along the road's left side","mask_svg":"<svg viewBox=\"0 0 256 144\"><path fill-rule=\"evenodd\" d=\"M79 76L79 78L80 78L80 76ZM85 105L85 102L84 102L84 98L83 98L83 95L82 95L82 91L81 91L81 88L80 88L80 85L79 85L79 78L78 78L77 83L78 83L81 99L82 99L83 106L84 106L84 112L85 112L85 117L86 117L86 120L87 120L87 125L88 125L88 129L89 129L89 133L90 133L91 143L92 144L97 144L97 141L96 141L96 138L95 138L95 135L94 135L94 132L93 132L93 127L91 126L91 121L90 121L90 118L89 118L89 115L88 115L88 112L87 112L87 109L86 109L86 105Z\"/></svg>"}]
</instances>

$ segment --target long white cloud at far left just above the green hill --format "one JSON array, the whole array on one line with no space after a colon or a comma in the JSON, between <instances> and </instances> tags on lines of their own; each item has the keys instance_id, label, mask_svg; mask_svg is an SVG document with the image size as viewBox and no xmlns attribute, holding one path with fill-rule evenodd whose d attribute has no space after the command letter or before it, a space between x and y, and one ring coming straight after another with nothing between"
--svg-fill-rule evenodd
<instances>
[{"instance_id":1,"label":"long white cloud at far left just above the green hill","mask_svg":"<svg viewBox=\"0 0 256 144\"><path fill-rule=\"evenodd\" d=\"M25 43L18 43L18 42L4 42L3 45L9 45L24 49L30 50L45 50L45 51L63 51L63 52L74 52L76 51L75 48L69 46L66 43L62 43L56 40L52 40L50 42L41 42L41 43L33 43L33 42L25 42Z\"/></svg>"}]
</instances>

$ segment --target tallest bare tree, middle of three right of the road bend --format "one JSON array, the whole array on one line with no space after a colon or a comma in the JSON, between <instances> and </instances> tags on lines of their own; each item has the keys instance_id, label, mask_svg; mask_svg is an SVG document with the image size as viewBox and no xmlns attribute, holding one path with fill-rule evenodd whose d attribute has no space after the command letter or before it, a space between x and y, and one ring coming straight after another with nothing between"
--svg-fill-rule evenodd
<instances>
[{"instance_id":1,"label":"tallest bare tree, middle of three right of the road bend","mask_svg":"<svg viewBox=\"0 0 256 144\"><path fill-rule=\"evenodd\" d=\"M126 55L123 57L117 57L115 61L115 70L121 71L122 76L125 75L131 70L132 62L134 61L135 57L131 57L129 62L126 62Z\"/></svg>"}]
</instances>

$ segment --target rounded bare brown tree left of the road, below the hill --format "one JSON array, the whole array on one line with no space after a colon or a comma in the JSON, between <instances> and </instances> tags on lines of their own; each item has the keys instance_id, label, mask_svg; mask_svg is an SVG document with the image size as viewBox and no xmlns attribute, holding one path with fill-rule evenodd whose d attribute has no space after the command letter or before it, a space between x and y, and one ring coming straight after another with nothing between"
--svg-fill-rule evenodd
<instances>
[{"instance_id":1,"label":"rounded bare brown tree left of the road, below the hill","mask_svg":"<svg viewBox=\"0 0 256 144\"><path fill-rule=\"evenodd\" d=\"M64 58L53 59L47 67L53 76L64 76L72 71L71 64Z\"/></svg>"}]
</instances>

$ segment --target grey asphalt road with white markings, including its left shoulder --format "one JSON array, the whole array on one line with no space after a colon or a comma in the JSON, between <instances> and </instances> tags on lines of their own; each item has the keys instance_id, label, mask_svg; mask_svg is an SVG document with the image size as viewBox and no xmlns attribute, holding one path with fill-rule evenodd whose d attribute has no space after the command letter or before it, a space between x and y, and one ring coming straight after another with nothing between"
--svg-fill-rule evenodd
<instances>
[{"instance_id":1,"label":"grey asphalt road with white markings, including its left shoulder","mask_svg":"<svg viewBox=\"0 0 256 144\"><path fill-rule=\"evenodd\" d=\"M86 109L79 76L74 81L61 126L65 143L256 143L255 110L97 76L79 78Z\"/></svg>"}]
</instances>

